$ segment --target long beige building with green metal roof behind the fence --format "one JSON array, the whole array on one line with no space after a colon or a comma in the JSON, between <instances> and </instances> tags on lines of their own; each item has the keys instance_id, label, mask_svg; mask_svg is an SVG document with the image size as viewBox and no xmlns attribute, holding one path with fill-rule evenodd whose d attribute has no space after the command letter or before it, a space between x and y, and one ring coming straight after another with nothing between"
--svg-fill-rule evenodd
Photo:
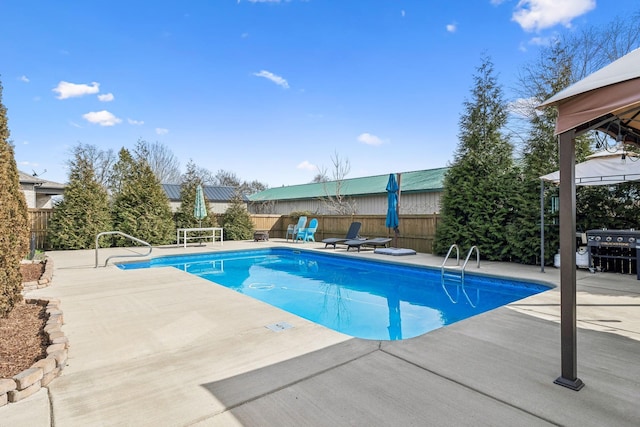
<instances>
[{"instance_id":1,"label":"long beige building with green metal roof behind the fence","mask_svg":"<svg viewBox=\"0 0 640 427\"><path fill-rule=\"evenodd\" d=\"M400 213L432 214L440 211L440 196L448 168L400 173ZM354 214L384 214L389 175L350 178L324 183L269 188L249 196L253 213L288 215L294 211L331 214L326 200L336 194L351 199Z\"/></svg>"}]
</instances>

